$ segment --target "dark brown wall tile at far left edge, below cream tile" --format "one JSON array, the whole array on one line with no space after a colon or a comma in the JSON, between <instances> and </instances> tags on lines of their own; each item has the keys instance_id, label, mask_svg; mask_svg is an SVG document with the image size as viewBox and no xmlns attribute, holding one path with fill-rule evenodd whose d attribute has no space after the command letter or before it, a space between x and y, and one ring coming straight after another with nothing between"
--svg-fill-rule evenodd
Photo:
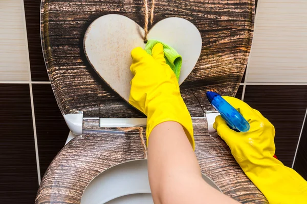
<instances>
[{"instance_id":1,"label":"dark brown wall tile at far left edge, below cream tile","mask_svg":"<svg viewBox=\"0 0 307 204\"><path fill-rule=\"evenodd\" d=\"M33 203L38 189L28 84L0 84L0 202Z\"/></svg>"}]
</instances>

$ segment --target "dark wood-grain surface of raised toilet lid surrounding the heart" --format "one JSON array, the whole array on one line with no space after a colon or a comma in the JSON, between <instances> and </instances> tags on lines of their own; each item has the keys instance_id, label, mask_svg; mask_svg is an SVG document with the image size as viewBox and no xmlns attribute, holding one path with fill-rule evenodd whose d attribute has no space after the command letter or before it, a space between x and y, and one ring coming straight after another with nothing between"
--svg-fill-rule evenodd
<instances>
[{"instance_id":1,"label":"dark wood-grain surface of raised toilet lid surrounding the heart","mask_svg":"<svg viewBox=\"0 0 307 204\"><path fill-rule=\"evenodd\" d=\"M53 90L64 114L83 111L84 117L140 117L107 87L87 62L83 36L99 16L121 14L141 27L143 1L42 0L43 53ZM244 73L253 33L253 0L156 2L155 22L182 17L202 35L202 52L192 73L181 85L191 116L212 109L205 92L234 96Z\"/></svg>"}]
</instances>

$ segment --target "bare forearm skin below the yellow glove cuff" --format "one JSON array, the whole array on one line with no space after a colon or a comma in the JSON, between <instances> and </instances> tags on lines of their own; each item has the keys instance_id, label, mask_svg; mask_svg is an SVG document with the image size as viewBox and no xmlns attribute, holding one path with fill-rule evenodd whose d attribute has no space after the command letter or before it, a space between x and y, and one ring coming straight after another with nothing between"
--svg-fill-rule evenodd
<instances>
[{"instance_id":1,"label":"bare forearm skin below the yellow glove cuff","mask_svg":"<svg viewBox=\"0 0 307 204\"><path fill-rule=\"evenodd\" d=\"M210 187L182 126L156 126L148 141L148 173L155 203L237 203Z\"/></svg>"}]
</instances>

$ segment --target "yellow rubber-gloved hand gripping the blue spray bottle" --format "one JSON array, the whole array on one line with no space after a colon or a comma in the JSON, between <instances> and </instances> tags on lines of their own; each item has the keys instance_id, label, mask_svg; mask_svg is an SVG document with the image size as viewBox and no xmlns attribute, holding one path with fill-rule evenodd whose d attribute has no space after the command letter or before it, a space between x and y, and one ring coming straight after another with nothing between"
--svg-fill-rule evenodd
<instances>
[{"instance_id":1,"label":"yellow rubber-gloved hand gripping the blue spray bottle","mask_svg":"<svg viewBox=\"0 0 307 204\"><path fill-rule=\"evenodd\" d=\"M213 128L254 185L273 203L307 203L307 181L273 157L275 129L270 121L242 100L223 97L249 122L248 132L230 129L221 116Z\"/></svg>"}]
</instances>

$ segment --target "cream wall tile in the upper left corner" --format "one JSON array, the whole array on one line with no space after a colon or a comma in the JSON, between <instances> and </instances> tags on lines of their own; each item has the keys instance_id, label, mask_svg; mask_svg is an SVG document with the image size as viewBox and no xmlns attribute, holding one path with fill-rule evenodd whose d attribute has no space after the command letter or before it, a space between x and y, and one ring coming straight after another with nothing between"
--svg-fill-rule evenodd
<instances>
[{"instance_id":1,"label":"cream wall tile in the upper left corner","mask_svg":"<svg viewBox=\"0 0 307 204\"><path fill-rule=\"evenodd\" d=\"M0 81L29 80L23 0L0 0Z\"/></svg>"}]
</instances>

